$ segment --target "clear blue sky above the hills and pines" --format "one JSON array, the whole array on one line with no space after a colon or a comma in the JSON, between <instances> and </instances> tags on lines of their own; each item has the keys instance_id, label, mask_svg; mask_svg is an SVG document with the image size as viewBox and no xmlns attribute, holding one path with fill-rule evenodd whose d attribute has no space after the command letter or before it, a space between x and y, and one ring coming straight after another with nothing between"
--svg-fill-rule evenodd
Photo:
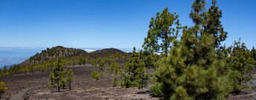
<instances>
[{"instance_id":1,"label":"clear blue sky above the hills and pines","mask_svg":"<svg viewBox=\"0 0 256 100\"><path fill-rule=\"evenodd\" d=\"M193 0L0 0L0 47L141 47L151 17L165 7L191 26ZM209 1L209 4L211 1ZM223 44L256 46L256 1L218 0Z\"/></svg>"}]
</instances>

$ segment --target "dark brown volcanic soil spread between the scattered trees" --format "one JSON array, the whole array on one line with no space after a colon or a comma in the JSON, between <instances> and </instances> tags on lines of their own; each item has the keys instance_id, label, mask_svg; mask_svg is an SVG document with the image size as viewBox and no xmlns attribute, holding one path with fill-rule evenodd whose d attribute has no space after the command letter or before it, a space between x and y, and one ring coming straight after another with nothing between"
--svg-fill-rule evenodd
<instances>
[{"instance_id":1,"label":"dark brown volcanic soil spread between the scattered trees","mask_svg":"<svg viewBox=\"0 0 256 100\"><path fill-rule=\"evenodd\" d=\"M19 73L11 76L3 76L0 81L4 81L8 90L4 93L4 99L10 99L10 97L16 96L21 90L31 87L24 98L27 99L159 99L149 95L148 87L138 90L137 88L121 88L111 87L111 81L113 76L105 76L98 81L95 81L91 77L92 70L95 70L90 64L84 66L68 67L73 70L74 78L72 84L72 90L65 90L56 92L53 87L49 87L49 74L50 73ZM255 76L256 77L256 76ZM232 99L255 99L256 92L256 79L253 79L250 84L252 90L245 90L242 94L236 96L229 96L229 100Z\"/></svg>"}]
</instances>

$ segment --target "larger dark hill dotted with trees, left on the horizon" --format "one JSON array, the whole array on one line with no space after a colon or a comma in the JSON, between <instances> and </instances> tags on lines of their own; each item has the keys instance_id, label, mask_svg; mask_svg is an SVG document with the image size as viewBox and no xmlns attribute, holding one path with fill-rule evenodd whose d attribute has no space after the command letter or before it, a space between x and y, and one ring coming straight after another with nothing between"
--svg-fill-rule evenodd
<instances>
[{"instance_id":1,"label":"larger dark hill dotted with trees, left on the horizon","mask_svg":"<svg viewBox=\"0 0 256 100\"><path fill-rule=\"evenodd\" d=\"M52 47L47 48L46 50L42 50L41 53L36 53L36 55L31 56L30 59L22 62L22 65L27 65L47 61L50 59L56 59L58 57L71 57L71 56L83 56L88 54L85 50L75 49L75 48L68 48L68 47Z\"/></svg>"}]
</instances>

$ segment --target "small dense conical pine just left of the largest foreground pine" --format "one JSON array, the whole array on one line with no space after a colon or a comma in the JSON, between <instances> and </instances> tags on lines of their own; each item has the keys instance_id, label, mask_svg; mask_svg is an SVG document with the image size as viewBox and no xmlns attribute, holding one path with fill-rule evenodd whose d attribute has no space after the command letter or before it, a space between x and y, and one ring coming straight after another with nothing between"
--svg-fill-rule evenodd
<instances>
[{"instance_id":1,"label":"small dense conical pine just left of the largest foreground pine","mask_svg":"<svg viewBox=\"0 0 256 100\"><path fill-rule=\"evenodd\" d=\"M122 73L124 78L121 82L122 87L145 87L148 84L149 74L145 67L142 51L136 52L134 47L130 60L125 64L125 70Z\"/></svg>"}]
</instances>

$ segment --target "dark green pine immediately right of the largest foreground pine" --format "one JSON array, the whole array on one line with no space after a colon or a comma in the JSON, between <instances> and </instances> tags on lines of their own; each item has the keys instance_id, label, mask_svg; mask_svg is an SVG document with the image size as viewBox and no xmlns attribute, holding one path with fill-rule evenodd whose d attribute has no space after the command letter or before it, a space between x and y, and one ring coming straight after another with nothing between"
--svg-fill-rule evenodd
<instances>
[{"instance_id":1,"label":"dark green pine immediately right of the largest foreground pine","mask_svg":"<svg viewBox=\"0 0 256 100\"><path fill-rule=\"evenodd\" d=\"M243 83L252 79L252 75L248 74L249 70L253 69L253 59L250 56L250 51L241 41L234 41L227 59L229 76L232 82L232 92L237 93L239 90L246 87Z\"/></svg>"}]
</instances>

